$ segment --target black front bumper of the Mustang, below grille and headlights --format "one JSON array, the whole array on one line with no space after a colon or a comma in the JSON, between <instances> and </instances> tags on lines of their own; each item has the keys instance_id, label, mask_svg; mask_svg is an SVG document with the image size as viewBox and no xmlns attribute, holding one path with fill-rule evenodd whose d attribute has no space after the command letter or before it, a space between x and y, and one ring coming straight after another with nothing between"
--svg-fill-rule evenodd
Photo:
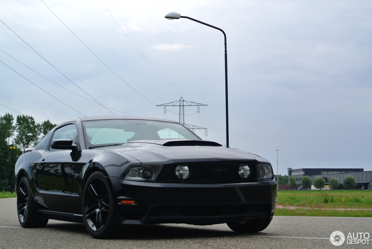
<instances>
[{"instance_id":1,"label":"black front bumper of the Mustang, below grille and headlights","mask_svg":"<svg viewBox=\"0 0 372 249\"><path fill-rule=\"evenodd\" d=\"M269 217L276 207L276 182L182 184L109 177L122 224L221 224ZM134 200L134 204L121 204Z\"/></svg>"}]
</instances>

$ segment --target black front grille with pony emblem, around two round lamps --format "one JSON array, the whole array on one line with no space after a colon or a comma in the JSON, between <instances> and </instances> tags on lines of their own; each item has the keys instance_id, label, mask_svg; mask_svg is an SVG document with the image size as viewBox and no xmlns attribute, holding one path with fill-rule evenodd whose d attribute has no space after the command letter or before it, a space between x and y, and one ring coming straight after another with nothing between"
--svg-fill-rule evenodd
<instances>
[{"instance_id":1,"label":"black front grille with pony emblem, around two round lamps","mask_svg":"<svg viewBox=\"0 0 372 249\"><path fill-rule=\"evenodd\" d=\"M190 177L181 180L175 174L178 165L187 165L190 169ZM257 170L255 164L245 164L250 168L250 175L243 179L239 176L238 171L241 164L236 163L188 163L170 165L167 181L172 182L256 182Z\"/></svg>"}]
</instances>

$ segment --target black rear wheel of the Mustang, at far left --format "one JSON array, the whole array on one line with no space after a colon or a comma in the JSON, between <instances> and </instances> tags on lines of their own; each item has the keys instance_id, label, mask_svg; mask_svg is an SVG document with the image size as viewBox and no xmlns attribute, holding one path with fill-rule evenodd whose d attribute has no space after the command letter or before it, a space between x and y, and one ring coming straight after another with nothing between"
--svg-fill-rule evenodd
<instances>
[{"instance_id":1,"label":"black rear wheel of the Mustang, at far left","mask_svg":"<svg viewBox=\"0 0 372 249\"><path fill-rule=\"evenodd\" d=\"M45 227L48 219L37 213L37 203L33 200L31 188L26 177L22 177L17 187L17 214L22 227Z\"/></svg>"}]
</instances>

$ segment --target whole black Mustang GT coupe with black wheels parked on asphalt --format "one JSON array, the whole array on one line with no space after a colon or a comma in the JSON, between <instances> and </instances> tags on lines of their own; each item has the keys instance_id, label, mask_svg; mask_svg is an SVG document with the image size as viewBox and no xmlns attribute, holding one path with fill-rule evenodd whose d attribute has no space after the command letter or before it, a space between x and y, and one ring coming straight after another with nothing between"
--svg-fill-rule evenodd
<instances>
[{"instance_id":1,"label":"whole black Mustang GT coupe with black wheels parked on asphalt","mask_svg":"<svg viewBox=\"0 0 372 249\"><path fill-rule=\"evenodd\" d=\"M23 227L73 221L95 238L160 223L260 232L276 207L269 161L162 119L67 120L19 157L15 173Z\"/></svg>"}]
</instances>

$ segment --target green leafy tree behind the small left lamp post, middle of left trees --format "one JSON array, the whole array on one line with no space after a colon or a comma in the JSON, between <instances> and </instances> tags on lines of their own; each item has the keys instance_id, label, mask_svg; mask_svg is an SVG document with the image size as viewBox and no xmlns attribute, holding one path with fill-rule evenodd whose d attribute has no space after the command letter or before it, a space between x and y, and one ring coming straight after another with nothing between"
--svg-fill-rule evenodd
<instances>
[{"instance_id":1,"label":"green leafy tree behind the small left lamp post, middle of left trees","mask_svg":"<svg viewBox=\"0 0 372 249\"><path fill-rule=\"evenodd\" d=\"M31 133L32 136L23 136L22 138L17 138L14 140L15 145L20 148L23 146L25 148L35 146L39 141L39 136L41 135L40 124L35 122L32 116L28 115L17 115L16 120L16 132L17 136L22 136Z\"/></svg>"}]
</instances>

